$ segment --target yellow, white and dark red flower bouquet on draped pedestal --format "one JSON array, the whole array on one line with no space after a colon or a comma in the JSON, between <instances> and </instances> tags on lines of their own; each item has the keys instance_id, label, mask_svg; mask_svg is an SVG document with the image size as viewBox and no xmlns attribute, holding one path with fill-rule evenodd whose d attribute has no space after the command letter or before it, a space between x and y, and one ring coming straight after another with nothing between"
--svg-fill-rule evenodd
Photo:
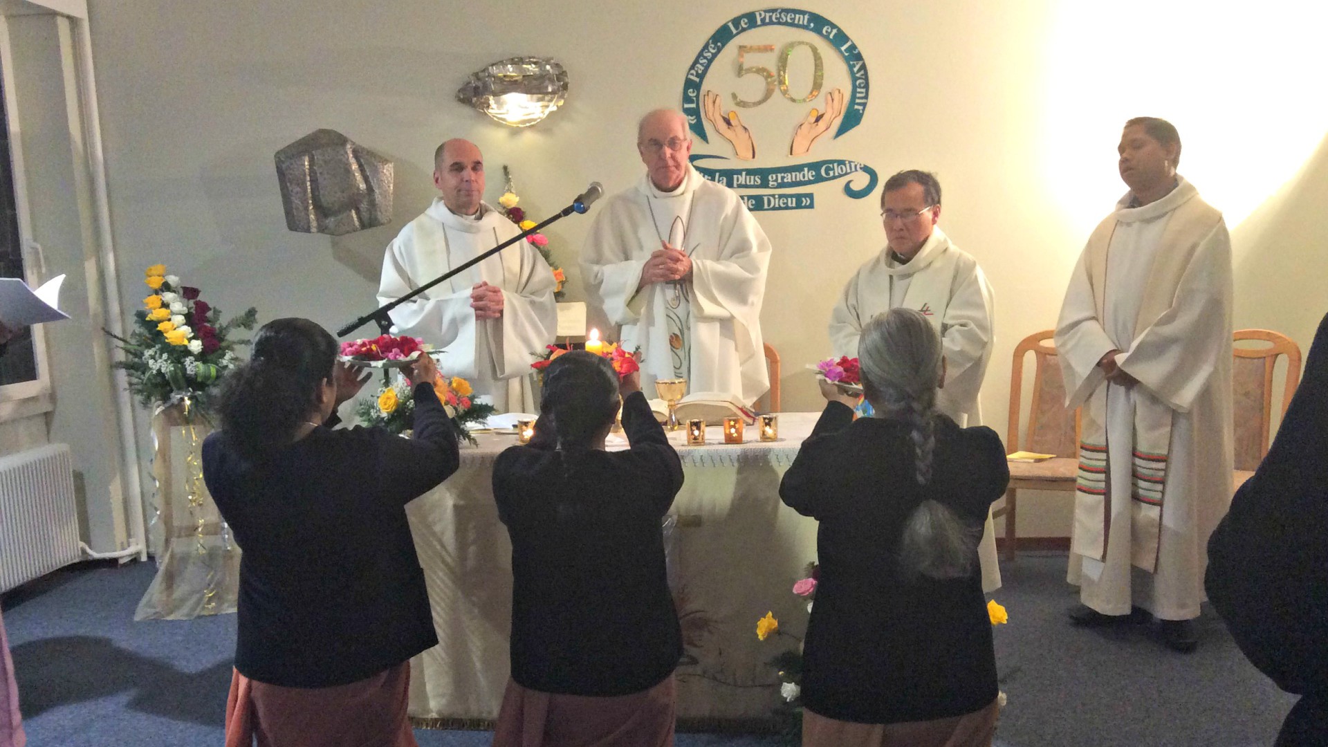
<instances>
[{"instance_id":1,"label":"yellow, white and dark red flower bouquet on draped pedestal","mask_svg":"<svg viewBox=\"0 0 1328 747\"><path fill-rule=\"evenodd\" d=\"M125 359L114 363L129 376L129 391L143 407L153 409L191 400L205 412L208 396L223 374L239 359L235 347L246 339L231 339L236 330L252 330L258 311L222 322L222 312L199 298L201 291L166 274L165 265L153 265L145 272L153 290L143 299L143 308L134 312L134 326L120 342Z\"/></svg>"}]
</instances>

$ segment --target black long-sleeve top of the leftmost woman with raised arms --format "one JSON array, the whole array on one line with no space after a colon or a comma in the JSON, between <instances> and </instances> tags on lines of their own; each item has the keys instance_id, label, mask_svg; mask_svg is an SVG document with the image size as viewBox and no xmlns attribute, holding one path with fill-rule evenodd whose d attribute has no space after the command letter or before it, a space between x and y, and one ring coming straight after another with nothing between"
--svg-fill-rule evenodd
<instances>
[{"instance_id":1,"label":"black long-sleeve top of the leftmost woman with raised arms","mask_svg":"<svg viewBox=\"0 0 1328 747\"><path fill-rule=\"evenodd\" d=\"M414 435L315 428L260 460L223 431L203 479L243 550L235 669L286 687L347 685L438 642L405 504L457 471L433 387L414 388Z\"/></svg>"}]
</instances>

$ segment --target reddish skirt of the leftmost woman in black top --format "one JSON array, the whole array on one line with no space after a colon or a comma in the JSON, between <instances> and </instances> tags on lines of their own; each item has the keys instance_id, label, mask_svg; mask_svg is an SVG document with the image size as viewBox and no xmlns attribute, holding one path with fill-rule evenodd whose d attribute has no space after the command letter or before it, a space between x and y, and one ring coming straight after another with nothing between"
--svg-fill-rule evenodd
<instances>
[{"instance_id":1,"label":"reddish skirt of the leftmost woman in black top","mask_svg":"<svg viewBox=\"0 0 1328 747\"><path fill-rule=\"evenodd\" d=\"M410 662L335 687L282 687L232 670L226 747L420 747L409 687Z\"/></svg>"}]
</instances>

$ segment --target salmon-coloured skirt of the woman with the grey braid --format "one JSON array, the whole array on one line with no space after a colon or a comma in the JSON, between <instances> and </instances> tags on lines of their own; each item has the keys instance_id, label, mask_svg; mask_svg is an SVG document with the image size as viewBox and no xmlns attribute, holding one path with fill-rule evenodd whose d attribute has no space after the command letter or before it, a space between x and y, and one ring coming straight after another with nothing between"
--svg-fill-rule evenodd
<instances>
[{"instance_id":1,"label":"salmon-coloured skirt of the woman with the grey braid","mask_svg":"<svg viewBox=\"0 0 1328 747\"><path fill-rule=\"evenodd\" d=\"M803 747L991 747L1000 706L936 720L855 723L802 710Z\"/></svg>"}]
</instances>

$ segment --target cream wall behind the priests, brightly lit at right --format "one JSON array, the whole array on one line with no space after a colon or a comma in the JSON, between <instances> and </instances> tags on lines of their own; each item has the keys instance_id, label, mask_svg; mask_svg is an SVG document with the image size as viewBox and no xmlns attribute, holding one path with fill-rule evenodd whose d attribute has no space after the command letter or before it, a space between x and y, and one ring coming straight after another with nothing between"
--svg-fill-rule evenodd
<instances>
[{"instance_id":1,"label":"cream wall behind the priests, brightly lit at right","mask_svg":"<svg viewBox=\"0 0 1328 747\"><path fill-rule=\"evenodd\" d=\"M490 201L499 166L511 165L534 215L591 179L625 189L641 170L636 118L676 106L705 39L758 7L94 1L122 292L141 298L139 267L166 262L228 312L255 304L263 320L301 315L335 327L373 302L382 247L433 194L438 142L481 146ZM942 225L996 288L983 407L999 431L1013 346L1054 323L1084 239L1125 190L1114 146L1130 116L1171 118L1186 141L1182 171L1240 221L1238 327L1308 344L1328 311L1328 218L1317 209L1328 195L1328 109L1297 85L1325 69L1312 36L1321 11L1204 4L1195 25L1183 13L1191 4L1178 1L801 7L843 27L871 72L863 124L811 156L863 161L882 179L936 171ZM453 100L466 74L513 54L552 56L571 76L566 108L531 129L502 128ZM732 69L734 54L730 45L716 69ZM725 76L712 73L710 85L732 85ZM337 239L286 230L272 154L317 128L396 161L393 225ZM841 186L813 187L814 211L758 215L776 246L762 324L785 362L785 409L818 408L802 367L829 352L835 292L883 245L876 195L847 199ZM574 217L550 231L574 299L588 226ZM1031 500L1020 516L1023 534L1069 533L1062 500Z\"/></svg>"}]
</instances>

